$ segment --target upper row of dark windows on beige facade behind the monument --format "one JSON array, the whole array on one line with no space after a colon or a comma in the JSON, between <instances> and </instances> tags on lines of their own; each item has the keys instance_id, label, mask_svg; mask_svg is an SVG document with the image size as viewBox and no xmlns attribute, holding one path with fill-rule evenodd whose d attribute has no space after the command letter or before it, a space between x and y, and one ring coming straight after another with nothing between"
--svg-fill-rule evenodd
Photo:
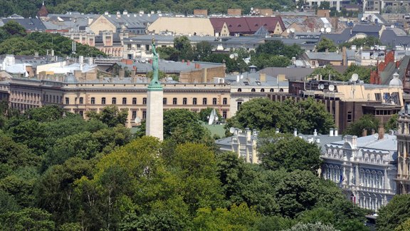
<instances>
[{"instance_id":1,"label":"upper row of dark windows on beige facade behind the monument","mask_svg":"<svg viewBox=\"0 0 410 231\"><path fill-rule=\"evenodd\" d=\"M77 98L75 98L75 103L77 103ZM84 104L84 98L80 97L78 98L78 103L79 104ZM101 104L106 104L107 99L105 97L101 98ZM112 97L111 99L112 104L117 104L117 98ZM162 98L162 103L164 105L167 104L167 98ZM197 98L192 98L192 104L196 105L198 103ZM65 104L70 104L70 98L65 98ZM90 104L95 104L95 97L90 98ZM127 104L127 98L122 98L122 104ZM137 98L132 98L132 104L137 104ZM142 98L142 104L147 104L147 98ZM172 104L177 105L178 104L178 98L172 98ZM182 99L182 104L186 105L188 104L188 98L183 98ZM202 98L202 105L208 104L208 98ZM218 99L217 98L212 98L212 105L218 104ZM222 100L222 104L226 105L228 104L228 98L224 98Z\"/></svg>"}]
</instances>

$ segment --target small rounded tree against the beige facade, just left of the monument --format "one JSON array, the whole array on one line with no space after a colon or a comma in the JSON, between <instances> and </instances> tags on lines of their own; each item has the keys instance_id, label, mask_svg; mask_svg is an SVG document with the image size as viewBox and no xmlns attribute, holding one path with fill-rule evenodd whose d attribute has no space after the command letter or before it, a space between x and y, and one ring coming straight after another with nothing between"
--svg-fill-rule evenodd
<instances>
[{"instance_id":1,"label":"small rounded tree against the beige facade, just left of the monument","mask_svg":"<svg viewBox=\"0 0 410 231\"><path fill-rule=\"evenodd\" d=\"M108 125L108 127L115 127L118 124L125 125L127 121L128 112L122 111L117 108L117 106L106 106L102 108L101 113L95 113L90 111L87 113L88 118L95 118L100 120L102 123Z\"/></svg>"}]
</instances>

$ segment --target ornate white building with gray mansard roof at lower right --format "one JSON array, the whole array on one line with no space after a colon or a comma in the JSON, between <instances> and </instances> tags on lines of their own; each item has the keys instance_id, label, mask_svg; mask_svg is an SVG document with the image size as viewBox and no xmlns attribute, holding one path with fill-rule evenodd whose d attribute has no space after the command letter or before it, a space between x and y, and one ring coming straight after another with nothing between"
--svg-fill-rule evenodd
<instances>
[{"instance_id":1,"label":"ornate white building with gray mansard roof at lower right","mask_svg":"<svg viewBox=\"0 0 410 231\"><path fill-rule=\"evenodd\" d=\"M325 145L322 177L338 183L352 202L377 211L396 194L397 140L393 132L345 140Z\"/></svg>"}]
</instances>

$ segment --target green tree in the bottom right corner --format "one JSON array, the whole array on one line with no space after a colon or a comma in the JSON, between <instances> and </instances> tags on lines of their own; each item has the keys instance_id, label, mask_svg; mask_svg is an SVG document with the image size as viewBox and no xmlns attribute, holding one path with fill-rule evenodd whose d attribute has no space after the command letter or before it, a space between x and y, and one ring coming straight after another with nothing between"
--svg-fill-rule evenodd
<instances>
[{"instance_id":1,"label":"green tree in the bottom right corner","mask_svg":"<svg viewBox=\"0 0 410 231\"><path fill-rule=\"evenodd\" d=\"M394 230L410 218L410 194L395 195L390 202L381 207L378 213L377 230Z\"/></svg>"}]
</instances>

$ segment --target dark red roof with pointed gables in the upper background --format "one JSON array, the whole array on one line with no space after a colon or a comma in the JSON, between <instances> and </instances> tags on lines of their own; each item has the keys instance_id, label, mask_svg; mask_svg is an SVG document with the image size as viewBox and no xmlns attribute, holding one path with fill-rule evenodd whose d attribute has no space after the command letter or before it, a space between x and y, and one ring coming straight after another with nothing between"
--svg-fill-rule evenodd
<instances>
[{"instance_id":1,"label":"dark red roof with pointed gables in the upper background","mask_svg":"<svg viewBox=\"0 0 410 231\"><path fill-rule=\"evenodd\" d=\"M275 17L234 17L234 18L210 18L214 31L221 31L222 26L226 23L231 34L254 34L261 26L269 32L275 31L276 24L280 24L282 30L285 30L282 18Z\"/></svg>"}]
</instances>

